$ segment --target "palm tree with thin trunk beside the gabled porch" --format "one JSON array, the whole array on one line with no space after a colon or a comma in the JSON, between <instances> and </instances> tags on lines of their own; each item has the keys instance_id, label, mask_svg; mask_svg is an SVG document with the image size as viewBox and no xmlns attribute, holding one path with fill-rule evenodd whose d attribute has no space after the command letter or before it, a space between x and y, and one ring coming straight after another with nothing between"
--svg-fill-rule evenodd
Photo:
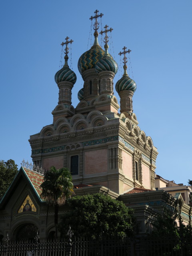
<instances>
[{"instance_id":1,"label":"palm tree with thin trunk beside the gabled porch","mask_svg":"<svg viewBox=\"0 0 192 256\"><path fill-rule=\"evenodd\" d=\"M44 182L40 185L42 193L40 198L49 205L54 206L55 238L58 230L58 208L65 204L65 200L71 198L73 183L68 168L56 169L54 166L44 175Z\"/></svg>"}]
</instances>

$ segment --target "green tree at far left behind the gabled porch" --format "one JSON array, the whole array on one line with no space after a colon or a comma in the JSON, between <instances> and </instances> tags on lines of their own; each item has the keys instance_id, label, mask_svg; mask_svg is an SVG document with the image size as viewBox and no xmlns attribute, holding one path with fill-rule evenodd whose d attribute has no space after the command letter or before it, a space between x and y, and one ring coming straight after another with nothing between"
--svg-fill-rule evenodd
<instances>
[{"instance_id":1,"label":"green tree at far left behind the gabled porch","mask_svg":"<svg viewBox=\"0 0 192 256\"><path fill-rule=\"evenodd\" d=\"M17 166L12 159L7 162L0 160L0 197L4 196L16 176L18 172Z\"/></svg>"}]
</instances>

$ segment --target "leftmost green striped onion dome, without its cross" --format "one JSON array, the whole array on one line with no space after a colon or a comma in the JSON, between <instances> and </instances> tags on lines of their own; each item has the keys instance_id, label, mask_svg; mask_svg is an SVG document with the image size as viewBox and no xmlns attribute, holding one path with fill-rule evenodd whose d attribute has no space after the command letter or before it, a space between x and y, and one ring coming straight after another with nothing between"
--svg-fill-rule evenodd
<instances>
[{"instance_id":1,"label":"leftmost green striped onion dome, without its cross","mask_svg":"<svg viewBox=\"0 0 192 256\"><path fill-rule=\"evenodd\" d=\"M67 60L68 56L65 57L65 64L58 72L55 74L55 82L58 84L59 82L71 82L72 84L76 83L77 77L76 74L69 68Z\"/></svg>"}]
</instances>

